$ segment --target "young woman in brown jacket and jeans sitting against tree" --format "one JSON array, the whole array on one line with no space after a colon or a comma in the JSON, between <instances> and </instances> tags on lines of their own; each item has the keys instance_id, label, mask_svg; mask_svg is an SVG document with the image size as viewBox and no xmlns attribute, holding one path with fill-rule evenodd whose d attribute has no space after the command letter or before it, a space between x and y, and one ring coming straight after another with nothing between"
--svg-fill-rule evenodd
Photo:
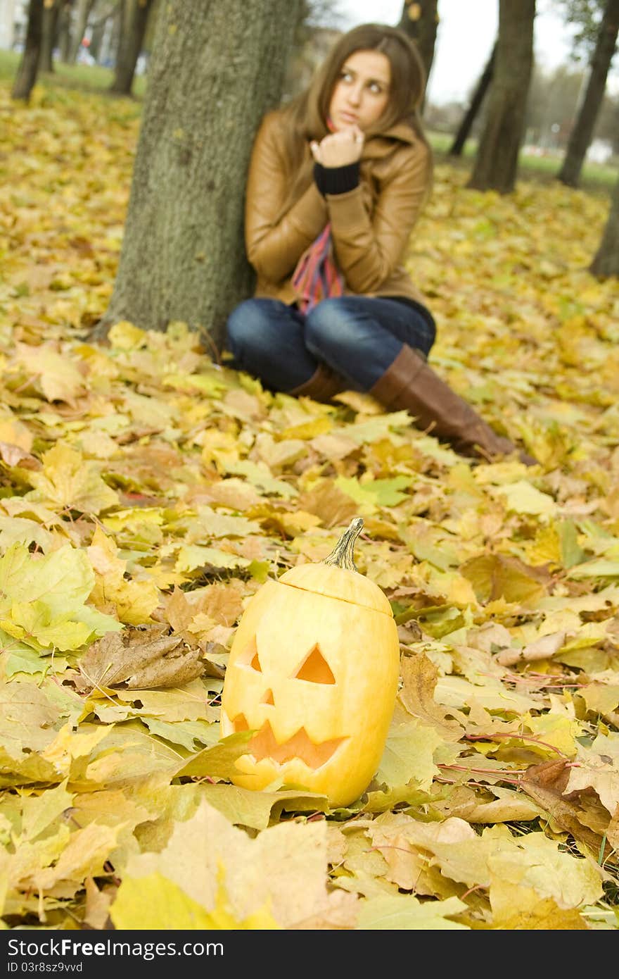
<instances>
[{"instance_id":1,"label":"young woman in brown jacket and jeans sitting against tree","mask_svg":"<svg viewBox=\"0 0 619 979\"><path fill-rule=\"evenodd\" d=\"M404 33L362 24L264 118L245 200L257 285L229 317L227 348L270 390L368 392L457 451L495 458L515 446L427 364L435 323L403 265L431 183L424 80Z\"/></svg>"}]
</instances>

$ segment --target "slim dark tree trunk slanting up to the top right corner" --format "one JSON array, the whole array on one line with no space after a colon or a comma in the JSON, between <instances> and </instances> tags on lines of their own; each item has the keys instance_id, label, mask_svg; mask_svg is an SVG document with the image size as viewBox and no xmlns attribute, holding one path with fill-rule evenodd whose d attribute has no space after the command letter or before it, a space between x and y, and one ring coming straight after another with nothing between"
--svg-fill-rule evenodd
<instances>
[{"instance_id":1,"label":"slim dark tree trunk slanting up to the top right corner","mask_svg":"<svg viewBox=\"0 0 619 979\"><path fill-rule=\"evenodd\" d=\"M606 0L597 33L596 49L591 60L591 73L585 98L570 133L567 150L557 179L568 187L576 187L580 171L596 126L606 87L606 75L615 53L619 33L619 0Z\"/></svg>"}]
</instances>

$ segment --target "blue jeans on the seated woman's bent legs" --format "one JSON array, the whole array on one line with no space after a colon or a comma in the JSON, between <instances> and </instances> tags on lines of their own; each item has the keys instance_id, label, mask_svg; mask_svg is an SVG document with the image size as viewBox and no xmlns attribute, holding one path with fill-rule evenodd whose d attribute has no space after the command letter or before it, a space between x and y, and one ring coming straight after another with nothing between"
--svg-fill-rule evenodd
<instances>
[{"instance_id":1,"label":"blue jeans on the seated woman's bent legs","mask_svg":"<svg viewBox=\"0 0 619 979\"><path fill-rule=\"evenodd\" d=\"M415 306L344 296L323 300L304 316L280 300L246 300L228 319L233 366L274 391L292 391L320 361L353 391L370 391L404 344L427 356L436 329Z\"/></svg>"}]
</instances>

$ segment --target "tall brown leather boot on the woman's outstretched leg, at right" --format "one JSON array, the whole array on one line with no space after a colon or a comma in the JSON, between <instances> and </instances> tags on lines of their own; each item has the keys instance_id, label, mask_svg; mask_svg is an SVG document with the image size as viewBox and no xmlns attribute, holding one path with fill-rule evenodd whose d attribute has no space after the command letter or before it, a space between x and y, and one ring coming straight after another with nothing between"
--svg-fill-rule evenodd
<instances>
[{"instance_id":1,"label":"tall brown leather boot on the woman's outstretched leg, at right","mask_svg":"<svg viewBox=\"0 0 619 979\"><path fill-rule=\"evenodd\" d=\"M519 451L493 432L470 404L441 381L420 353L406 344L369 394L391 411L406 408L414 415L417 428L451 443L461 455L492 461ZM537 464L527 452L519 451L519 457L529 466Z\"/></svg>"}]
</instances>

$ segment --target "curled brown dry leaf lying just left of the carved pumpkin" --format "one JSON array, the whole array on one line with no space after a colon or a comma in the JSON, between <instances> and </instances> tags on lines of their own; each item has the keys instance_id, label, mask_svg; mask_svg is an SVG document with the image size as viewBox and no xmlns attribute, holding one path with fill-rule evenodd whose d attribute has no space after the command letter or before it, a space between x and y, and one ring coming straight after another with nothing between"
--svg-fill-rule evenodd
<instances>
[{"instance_id":1,"label":"curled brown dry leaf lying just left of the carved pumpkin","mask_svg":"<svg viewBox=\"0 0 619 979\"><path fill-rule=\"evenodd\" d=\"M201 676L199 649L187 650L180 635L152 629L109 632L93 643L79 663L86 688L182 686Z\"/></svg>"}]
</instances>

